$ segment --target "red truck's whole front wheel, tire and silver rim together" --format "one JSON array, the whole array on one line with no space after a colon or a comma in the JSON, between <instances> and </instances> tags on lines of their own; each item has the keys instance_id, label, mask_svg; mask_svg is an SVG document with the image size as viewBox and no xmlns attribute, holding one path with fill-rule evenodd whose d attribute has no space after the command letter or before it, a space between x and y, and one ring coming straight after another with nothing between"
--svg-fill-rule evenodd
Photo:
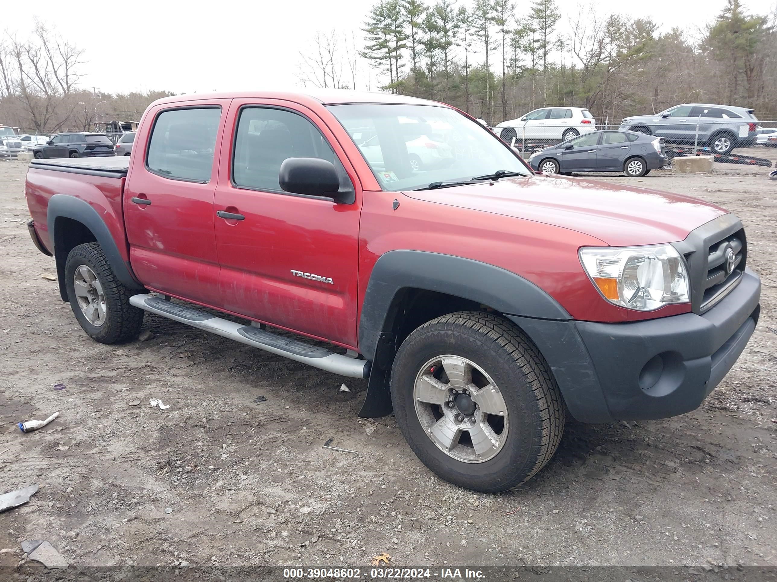
<instances>
[{"instance_id":1,"label":"red truck's whole front wheel, tire and silver rim together","mask_svg":"<svg viewBox=\"0 0 777 582\"><path fill-rule=\"evenodd\" d=\"M465 311L417 328L397 352L391 391L413 452L461 487L524 483L561 440L564 407L548 364L497 315Z\"/></svg>"}]
</instances>

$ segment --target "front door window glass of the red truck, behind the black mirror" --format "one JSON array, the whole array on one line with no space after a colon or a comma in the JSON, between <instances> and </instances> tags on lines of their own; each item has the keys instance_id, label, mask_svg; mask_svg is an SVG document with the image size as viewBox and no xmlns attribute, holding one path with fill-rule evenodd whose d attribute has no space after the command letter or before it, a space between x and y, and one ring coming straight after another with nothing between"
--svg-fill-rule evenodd
<instances>
[{"instance_id":1,"label":"front door window glass of the red truck, behind the black mirror","mask_svg":"<svg viewBox=\"0 0 777 582\"><path fill-rule=\"evenodd\" d=\"M377 137L373 135L372 139L375 147L379 147ZM329 142L307 118L285 109L242 109L232 155L232 182L241 188L284 192L278 183L278 174L287 158L330 161L343 183L345 169Z\"/></svg>"}]
</instances>

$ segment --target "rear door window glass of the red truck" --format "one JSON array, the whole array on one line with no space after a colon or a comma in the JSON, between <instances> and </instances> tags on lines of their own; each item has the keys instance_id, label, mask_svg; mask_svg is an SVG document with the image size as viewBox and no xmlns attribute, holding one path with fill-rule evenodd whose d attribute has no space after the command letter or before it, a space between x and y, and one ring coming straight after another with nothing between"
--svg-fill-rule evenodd
<instances>
[{"instance_id":1,"label":"rear door window glass of the red truck","mask_svg":"<svg viewBox=\"0 0 777 582\"><path fill-rule=\"evenodd\" d=\"M211 179L221 108L170 109L156 118L146 168L165 178Z\"/></svg>"}]
</instances>

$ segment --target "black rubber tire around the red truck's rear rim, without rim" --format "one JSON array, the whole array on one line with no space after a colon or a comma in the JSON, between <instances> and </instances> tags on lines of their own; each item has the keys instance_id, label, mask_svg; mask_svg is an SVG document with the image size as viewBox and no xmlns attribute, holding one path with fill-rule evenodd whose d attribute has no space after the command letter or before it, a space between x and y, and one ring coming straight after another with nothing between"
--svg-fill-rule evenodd
<instances>
[{"instance_id":1,"label":"black rubber tire around the red truck's rear rim, without rim","mask_svg":"<svg viewBox=\"0 0 777 582\"><path fill-rule=\"evenodd\" d=\"M95 273L106 300L105 322L96 327L86 319L75 296L74 275L80 265L86 265ZM65 288L68 291L70 307L82 329L101 344L117 344L138 338L143 324L143 310L130 305L132 293L125 287L110 268L108 259L99 243L79 244L68 254L64 265Z\"/></svg>"}]
</instances>

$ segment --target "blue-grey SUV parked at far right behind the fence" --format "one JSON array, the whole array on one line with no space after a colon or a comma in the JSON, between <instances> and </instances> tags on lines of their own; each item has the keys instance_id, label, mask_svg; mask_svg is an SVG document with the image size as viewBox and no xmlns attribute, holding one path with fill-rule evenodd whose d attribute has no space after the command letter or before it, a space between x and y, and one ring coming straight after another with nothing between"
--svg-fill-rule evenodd
<instances>
[{"instance_id":1,"label":"blue-grey SUV parked at far right behind the fence","mask_svg":"<svg viewBox=\"0 0 777 582\"><path fill-rule=\"evenodd\" d=\"M698 143L715 154L728 154L734 147L752 147L756 141L758 118L753 109L706 103L684 103L657 115L625 117L620 129L650 133L667 143Z\"/></svg>"}]
</instances>

